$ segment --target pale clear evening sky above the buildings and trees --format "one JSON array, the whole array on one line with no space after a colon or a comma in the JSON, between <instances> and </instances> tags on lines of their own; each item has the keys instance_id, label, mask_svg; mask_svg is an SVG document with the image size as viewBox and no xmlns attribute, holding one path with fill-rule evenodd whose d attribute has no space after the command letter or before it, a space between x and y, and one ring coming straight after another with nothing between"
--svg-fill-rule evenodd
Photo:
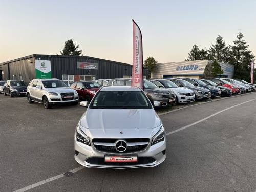
<instances>
[{"instance_id":1,"label":"pale clear evening sky above the buildings and trees","mask_svg":"<svg viewBox=\"0 0 256 192\"><path fill-rule=\"evenodd\" d=\"M0 63L31 54L60 54L74 39L83 56L132 63L132 19L143 59L184 61L194 44L244 33L256 55L256 1L5 1L0 0Z\"/></svg>"}]
</instances>

